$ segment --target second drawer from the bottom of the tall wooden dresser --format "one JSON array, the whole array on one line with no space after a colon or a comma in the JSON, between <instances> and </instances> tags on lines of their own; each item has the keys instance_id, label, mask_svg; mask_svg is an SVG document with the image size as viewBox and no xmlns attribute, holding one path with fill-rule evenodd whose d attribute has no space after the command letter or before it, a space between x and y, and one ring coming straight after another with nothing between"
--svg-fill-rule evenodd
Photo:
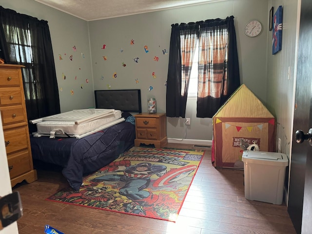
<instances>
[{"instance_id":1,"label":"second drawer from the bottom of the tall wooden dresser","mask_svg":"<svg viewBox=\"0 0 312 234\"><path fill-rule=\"evenodd\" d=\"M20 128L4 130L4 141L6 154L9 155L13 152L27 149L28 128L23 126Z\"/></svg>"}]
</instances>

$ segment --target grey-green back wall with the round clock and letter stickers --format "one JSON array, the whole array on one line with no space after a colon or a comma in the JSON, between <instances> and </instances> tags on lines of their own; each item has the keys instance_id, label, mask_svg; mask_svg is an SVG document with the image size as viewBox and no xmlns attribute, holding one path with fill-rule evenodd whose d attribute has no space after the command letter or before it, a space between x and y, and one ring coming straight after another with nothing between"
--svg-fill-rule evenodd
<instances>
[{"instance_id":1,"label":"grey-green back wall with the round clock and letter stickers","mask_svg":"<svg viewBox=\"0 0 312 234\"><path fill-rule=\"evenodd\" d=\"M268 0L225 0L89 21L96 89L139 88L143 112L147 112L147 98L156 98L157 112L165 112L169 59L166 52L169 52L171 24L225 19L231 15L235 22L241 83L266 102ZM244 34L244 27L254 19L262 23L263 31L256 38L249 38ZM191 125L186 128L187 139L212 140L212 119L196 118L195 99L188 100L186 117L191 118ZM184 119L168 117L167 136L182 138L185 134L183 123Z\"/></svg>"}]
</instances>

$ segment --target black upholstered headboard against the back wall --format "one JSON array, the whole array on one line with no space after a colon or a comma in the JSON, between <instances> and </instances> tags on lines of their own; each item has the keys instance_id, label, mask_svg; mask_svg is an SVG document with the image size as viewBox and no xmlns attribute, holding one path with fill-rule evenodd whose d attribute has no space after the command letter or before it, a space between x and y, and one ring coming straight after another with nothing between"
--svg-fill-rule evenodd
<instances>
[{"instance_id":1,"label":"black upholstered headboard against the back wall","mask_svg":"<svg viewBox=\"0 0 312 234\"><path fill-rule=\"evenodd\" d=\"M141 113L141 90L95 90L96 108Z\"/></svg>"}]
</instances>

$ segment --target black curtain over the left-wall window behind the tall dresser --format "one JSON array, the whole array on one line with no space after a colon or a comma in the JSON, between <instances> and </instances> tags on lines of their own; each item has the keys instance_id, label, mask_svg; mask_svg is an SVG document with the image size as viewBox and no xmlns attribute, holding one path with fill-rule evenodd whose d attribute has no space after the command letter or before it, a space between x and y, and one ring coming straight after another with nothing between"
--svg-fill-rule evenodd
<instances>
[{"instance_id":1,"label":"black curtain over the left-wall window behind the tall dresser","mask_svg":"<svg viewBox=\"0 0 312 234\"><path fill-rule=\"evenodd\" d=\"M0 56L21 64L28 120L60 113L48 22L0 6ZM30 124L30 132L36 126Z\"/></svg>"}]
</instances>

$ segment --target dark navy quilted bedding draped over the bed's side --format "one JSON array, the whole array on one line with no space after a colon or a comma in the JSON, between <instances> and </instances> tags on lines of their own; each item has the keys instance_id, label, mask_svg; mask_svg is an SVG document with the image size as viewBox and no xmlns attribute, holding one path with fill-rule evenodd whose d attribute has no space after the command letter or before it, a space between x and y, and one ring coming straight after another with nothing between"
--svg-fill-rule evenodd
<instances>
[{"instance_id":1,"label":"dark navy quilted bedding draped over the bed's side","mask_svg":"<svg viewBox=\"0 0 312 234\"><path fill-rule=\"evenodd\" d=\"M82 176L114 161L134 146L135 126L131 121L118 123L80 139L30 137L33 159L61 166L62 174L74 190Z\"/></svg>"}]
</instances>

